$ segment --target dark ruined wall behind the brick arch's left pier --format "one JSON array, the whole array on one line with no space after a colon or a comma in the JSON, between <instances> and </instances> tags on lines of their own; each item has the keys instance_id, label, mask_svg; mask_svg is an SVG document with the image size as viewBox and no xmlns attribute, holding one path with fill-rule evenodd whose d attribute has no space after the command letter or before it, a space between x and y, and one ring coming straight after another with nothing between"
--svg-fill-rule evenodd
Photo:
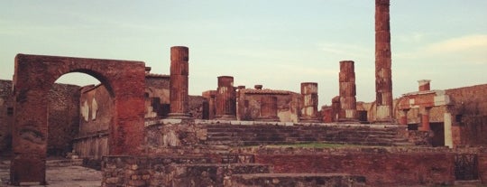
<instances>
[{"instance_id":1,"label":"dark ruined wall behind the brick arch's left pier","mask_svg":"<svg viewBox=\"0 0 487 187\"><path fill-rule=\"evenodd\" d=\"M8 154L12 148L14 125L14 96L12 81L0 80L0 153ZM78 134L79 87L54 84L48 93L49 125L48 155L64 155L72 149L71 141Z\"/></svg>"}]
</instances>

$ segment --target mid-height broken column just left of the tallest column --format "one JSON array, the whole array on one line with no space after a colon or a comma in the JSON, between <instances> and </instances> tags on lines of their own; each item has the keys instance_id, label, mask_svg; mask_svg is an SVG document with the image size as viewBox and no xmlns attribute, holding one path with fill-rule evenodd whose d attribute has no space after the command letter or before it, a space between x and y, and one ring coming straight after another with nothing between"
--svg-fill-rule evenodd
<instances>
[{"instance_id":1,"label":"mid-height broken column just left of the tallest column","mask_svg":"<svg viewBox=\"0 0 487 187\"><path fill-rule=\"evenodd\" d=\"M339 122L358 122L355 98L354 61L340 61L339 73L340 112Z\"/></svg>"}]
</instances>

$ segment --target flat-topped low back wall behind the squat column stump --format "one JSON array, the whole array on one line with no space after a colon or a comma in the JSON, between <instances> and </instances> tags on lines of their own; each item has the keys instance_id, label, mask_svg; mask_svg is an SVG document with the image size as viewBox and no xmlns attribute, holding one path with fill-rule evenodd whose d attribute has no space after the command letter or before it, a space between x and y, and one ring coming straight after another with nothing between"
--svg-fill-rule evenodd
<instances>
[{"instance_id":1,"label":"flat-topped low back wall behind the squat column stump","mask_svg":"<svg viewBox=\"0 0 487 187\"><path fill-rule=\"evenodd\" d=\"M257 120L261 115L263 97L276 97L281 122L299 122L301 95L290 91L270 89L241 89L238 96L239 120Z\"/></svg>"}]
</instances>

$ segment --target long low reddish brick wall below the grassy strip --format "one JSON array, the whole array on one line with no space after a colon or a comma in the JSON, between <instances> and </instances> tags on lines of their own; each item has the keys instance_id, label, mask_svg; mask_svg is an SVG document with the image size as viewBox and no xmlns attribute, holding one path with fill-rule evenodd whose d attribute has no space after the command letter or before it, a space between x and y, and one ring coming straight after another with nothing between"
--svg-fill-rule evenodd
<instances>
[{"instance_id":1,"label":"long low reddish brick wall below the grassy strip","mask_svg":"<svg viewBox=\"0 0 487 187\"><path fill-rule=\"evenodd\" d=\"M286 152L265 154L262 151L255 154L255 162L273 165L275 173L361 174L372 186L453 184L455 181L455 154L387 153L380 148L355 153L340 149L331 154Z\"/></svg>"}]
</instances>

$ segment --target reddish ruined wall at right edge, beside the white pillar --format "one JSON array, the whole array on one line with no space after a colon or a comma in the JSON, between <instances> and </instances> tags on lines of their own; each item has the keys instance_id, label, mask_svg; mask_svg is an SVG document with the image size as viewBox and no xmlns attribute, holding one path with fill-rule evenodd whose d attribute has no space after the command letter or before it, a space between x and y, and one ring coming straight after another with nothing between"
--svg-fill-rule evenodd
<instances>
[{"instance_id":1,"label":"reddish ruined wall at right edge, beside the white pillar","mask_svg":"<svg viewBox=\"0 0 487 187\"><path fill-rule=\"evenodd\" d=\"M453 106L454 144L487 145L487 84L446 89Z\"/></svg>"}]
</instances>

